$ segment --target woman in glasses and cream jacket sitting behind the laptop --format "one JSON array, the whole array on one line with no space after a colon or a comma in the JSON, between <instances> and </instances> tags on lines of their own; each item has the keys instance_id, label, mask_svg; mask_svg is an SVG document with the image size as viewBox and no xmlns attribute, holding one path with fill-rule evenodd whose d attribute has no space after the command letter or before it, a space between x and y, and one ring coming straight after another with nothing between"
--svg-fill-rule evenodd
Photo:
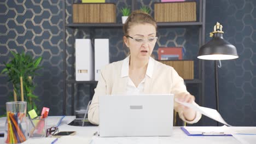
<instances>
[{"instance_id":1,"label":"woman in glasses and cream jacket sitting behind the laptop","mask_svg":"<svg viewBox=\"0 0 256 144\"><path fill-rule=\"evenodd\" d=\"M157 40L153 17L141 11L133 11L126 20L123 31L123 40L130 50L130 56L101 70L101 78L89 107L89 121L98 124L99 95L173 93L180 101L196 105L195 97L189 94L177 72L150 57ZM176 102L174 110L187 123L196 123L201 118L201 113Z\"/></svg>"}]
</instances>

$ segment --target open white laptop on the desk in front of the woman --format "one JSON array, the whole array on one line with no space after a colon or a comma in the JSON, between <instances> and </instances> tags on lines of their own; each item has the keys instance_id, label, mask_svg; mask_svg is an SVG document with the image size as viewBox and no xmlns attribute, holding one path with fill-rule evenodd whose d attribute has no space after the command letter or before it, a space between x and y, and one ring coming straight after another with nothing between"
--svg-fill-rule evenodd
<instances>
[{"instance_id":1,"label":"open white laptop on the desk in front of the woman","mask_svg":"<svg viewBox=\"0 0 256 144\"><path fill-rule=\"evenodd\" d=\"M173 94L102 95L99 135L171 136Z\"/></svg>"}]
</instances>

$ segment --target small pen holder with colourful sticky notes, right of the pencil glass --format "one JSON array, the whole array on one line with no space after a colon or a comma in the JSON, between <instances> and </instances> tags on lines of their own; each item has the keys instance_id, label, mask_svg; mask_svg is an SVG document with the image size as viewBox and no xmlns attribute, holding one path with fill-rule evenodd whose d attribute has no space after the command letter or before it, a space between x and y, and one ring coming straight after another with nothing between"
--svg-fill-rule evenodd
<instances>
[{"instance_id":1,"label":"small pen holder with colourful sticky notes, right of the pencil glass","mask_svg":"<svg viewBox=\"0 0 256 144\"><path fill-rule=\"evenodd\" d=\"M33 118L29 122L30 137L46 136L46 118Z\"/></svg>"}]
</instances>

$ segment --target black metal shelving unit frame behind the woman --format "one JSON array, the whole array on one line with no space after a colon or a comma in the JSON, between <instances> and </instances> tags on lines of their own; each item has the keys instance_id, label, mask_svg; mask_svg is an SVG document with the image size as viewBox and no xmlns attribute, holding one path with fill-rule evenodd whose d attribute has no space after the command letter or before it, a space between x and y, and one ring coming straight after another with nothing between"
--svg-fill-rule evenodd
<instances>
[{"instance_id":1,"label":"black metal shelving unit frame behind the woman","mask_svg":"<svg viewBox=\"0 0 256 144\"><path fill-rule=\"evenodd\" d=\"M136 0L132 0L132 10L136 9ZM63 9L66 10L66 2L63 1ZM158 22L157 26L159 28L165 27L190 27L190 26L198 26L199 27L199 47L205 43L205 9L206 9L206 0L199 0L199 19L197 22ZM123 23L66 23L66 13L63 10L63 41L66 41L66 28L72 29L72 47L74 47L74 29L79 28L122 28ZM198 48L199 49L199 48ZM64 43L64 55L63 55L63 115L66 115L66 98L67 98L67 85L71 85L71 114L74 115L74 84L75 83L84 83L90 86L96 85L97 81L75 81L74 77L74 56L72 57L72 78L70 80L66 80L66 43ZM74 49L72 49L74 52ZM199 88L199 104L201 106L204 105L205 101L205 67L204 61L199 59L199 79L194 80L184 80L185 83L195 83ZM92 90L93 91L93 90ZM93 94L94 92L90 92ZM91 96L92 97L92 96ZM203 122L201 122L202 124Z\"/></svg>"}]
</instances>

